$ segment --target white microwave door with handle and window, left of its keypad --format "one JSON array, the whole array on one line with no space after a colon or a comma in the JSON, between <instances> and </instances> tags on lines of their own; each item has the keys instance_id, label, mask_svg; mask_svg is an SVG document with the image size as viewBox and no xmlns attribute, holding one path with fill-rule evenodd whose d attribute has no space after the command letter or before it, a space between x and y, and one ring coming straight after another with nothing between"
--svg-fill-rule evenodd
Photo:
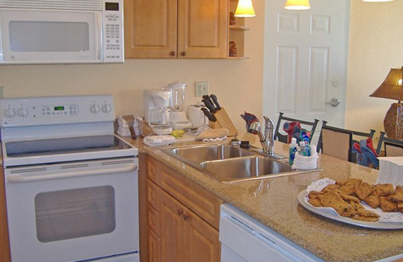
<instances>
[{"instance_id":1,"label":"white microwave door with handle and window, left of its keypad","mask_svg":"<svg viewBox=\"0 0 403 262\"><path fill-rule=\"evenodd\" d=\"M0 63L102 61L102 12L0 10Z\"/></svg>"}]
</instances>

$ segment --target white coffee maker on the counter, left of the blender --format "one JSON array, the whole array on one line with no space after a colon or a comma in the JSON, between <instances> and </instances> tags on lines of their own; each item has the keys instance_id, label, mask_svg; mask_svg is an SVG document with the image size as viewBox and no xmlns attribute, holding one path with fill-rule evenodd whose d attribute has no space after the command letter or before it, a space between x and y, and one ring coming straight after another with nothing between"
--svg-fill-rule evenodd
<instances>
[{"instance_id":1,"label":"white coffee maker on the counter, left of the blender","mask_svg":"<svg viewBox=\"0 0 403 262\"><path fill-rule=\"evenodd\" d=\"M157 135L172 132L170 100L172 91L163 89L144 90L145 120Z\"/></svg>"}]
</instances>

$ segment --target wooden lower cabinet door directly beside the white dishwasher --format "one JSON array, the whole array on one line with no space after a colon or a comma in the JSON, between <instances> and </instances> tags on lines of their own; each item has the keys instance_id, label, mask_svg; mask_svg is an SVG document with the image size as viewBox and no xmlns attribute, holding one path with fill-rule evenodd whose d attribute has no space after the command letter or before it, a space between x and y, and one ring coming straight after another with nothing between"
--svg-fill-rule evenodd
<instances>
[{"instance_id":1,"label":"wooden lower cabinet door directly beside the white dishwasher","mask_svg":"<svg viewBox=\"0 0 403 262\"><path fill-rule=\"evenodd\" d=\"M220 262L218 231L193 212L187 210L184 218L183 261Z\"/></svg>"}]
</instances>

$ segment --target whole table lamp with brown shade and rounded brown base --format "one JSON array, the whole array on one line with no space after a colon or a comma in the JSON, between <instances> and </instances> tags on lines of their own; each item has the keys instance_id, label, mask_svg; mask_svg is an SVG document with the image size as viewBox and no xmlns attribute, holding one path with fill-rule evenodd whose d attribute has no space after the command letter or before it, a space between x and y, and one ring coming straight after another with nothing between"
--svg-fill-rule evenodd
<instances>
[{"instance_id":1,"label":"whole table lamp with brown shade and rounded brown base","mask_svg":"<svg viewBox=\"0 0 403 262\"><path fill-rule=\"evenodd\" d=\"M369 96L398 101L386 112L383 126L388 138L403 140L403 67L390 69L383 83Z\"/></svg>"}]
</instances>

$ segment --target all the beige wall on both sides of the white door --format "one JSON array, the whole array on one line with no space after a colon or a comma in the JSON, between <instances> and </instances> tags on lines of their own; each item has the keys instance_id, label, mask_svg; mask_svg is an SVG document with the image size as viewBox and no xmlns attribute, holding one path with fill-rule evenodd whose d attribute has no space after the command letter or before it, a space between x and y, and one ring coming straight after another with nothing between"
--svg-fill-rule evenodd
<instances>
[{"instance_id":1,"label":"all the beige wall on both sides of the white door","mask_svg":"<svg viewBox=\"0 0 403 262\"><path fill-rule=\"evenodd\" d=\"M351 0L346 127L383 129L383 117L393 102L368 97L390 68L403 65L401 10L403 1L363 3ZM194 98L194 82L209 81L238 128L244 110L262 114L264 1L253 1L256 17L247 19L248 60L127 59L114 65L2 65L0 86L5 97L102 94L115 99L117 114L143 115L143 90L172 81L188 84L187 103Z\"/></svg>"}]
</instances>

